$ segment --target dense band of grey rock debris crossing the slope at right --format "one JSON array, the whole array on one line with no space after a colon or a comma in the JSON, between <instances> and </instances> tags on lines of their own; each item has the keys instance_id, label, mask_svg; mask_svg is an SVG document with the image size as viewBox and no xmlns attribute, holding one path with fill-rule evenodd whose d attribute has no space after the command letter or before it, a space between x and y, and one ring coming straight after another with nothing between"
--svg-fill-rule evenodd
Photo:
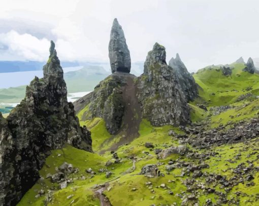
<instances>
[{"instance_id":1,"label":"dense band of grey rock debris crossing the slope at right","mask_svg":"<svg viewBox=\"0 0 259 206\"><path fill-rule=\"evenodd\" d=\"M250 122L240 121L234 123L230 129L223 126L207 131L189 130L194 137L177 135L182 143L191 144L197 148L210 148L213 145L236 143L259 136L259 118L253 118Z\"/></svg>"}]
</instances>

